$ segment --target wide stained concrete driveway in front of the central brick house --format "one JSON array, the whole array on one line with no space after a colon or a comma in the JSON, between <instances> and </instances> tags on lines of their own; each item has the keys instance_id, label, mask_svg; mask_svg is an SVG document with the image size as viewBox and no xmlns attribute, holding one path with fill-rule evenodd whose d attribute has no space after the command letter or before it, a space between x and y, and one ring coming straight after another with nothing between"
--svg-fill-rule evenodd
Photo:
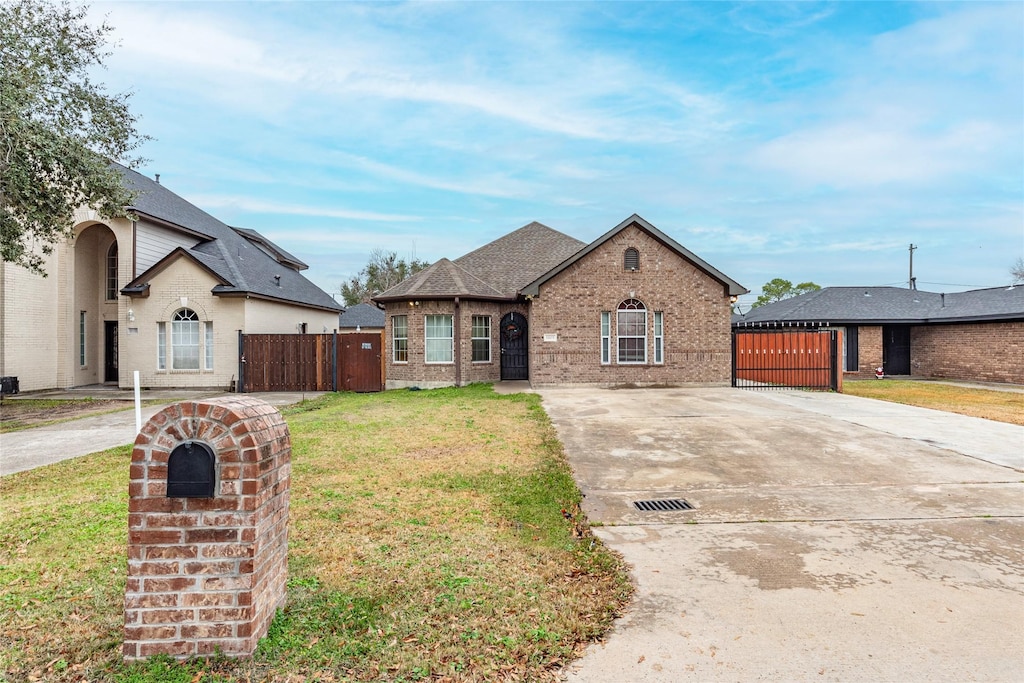
<instances>
[{"instance_id":1,"label":"wide stained concrete driveway in front of the central brick house","mask_svg":"<svg viewBox=\"0 0 1024 683\"><path fill-rule=\"evenodd\" d=\"M566 680L1024 679L1024 427L838 394L540 393L637 585ZM695 509L633 506L657 499Z\"/></svg>"}]
</instances>

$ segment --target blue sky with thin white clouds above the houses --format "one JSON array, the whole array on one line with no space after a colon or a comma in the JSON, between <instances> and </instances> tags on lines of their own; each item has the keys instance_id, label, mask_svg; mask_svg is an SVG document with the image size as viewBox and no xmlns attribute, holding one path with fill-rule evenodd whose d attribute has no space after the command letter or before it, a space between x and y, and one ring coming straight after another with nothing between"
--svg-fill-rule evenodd
<instances>
[{"instance_id":1,"label":"blue sky with thin white clouds above the houses","mask_svg":"<svg viewBox=\"0 0 1024 683\"><path fill-rule=\"evenodd\" d=\"M1024 3L99 3L140 170L309 263L638 213L752 290L1010 282Z\"/></svg>"}]
</instances>

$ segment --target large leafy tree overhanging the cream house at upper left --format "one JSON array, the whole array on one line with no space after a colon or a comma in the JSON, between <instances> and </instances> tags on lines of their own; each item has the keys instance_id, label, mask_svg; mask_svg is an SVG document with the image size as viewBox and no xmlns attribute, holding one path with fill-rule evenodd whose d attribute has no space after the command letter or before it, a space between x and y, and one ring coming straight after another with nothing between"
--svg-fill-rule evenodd
<instances>
[{"instance_id":1,"label":"large leafy tree overhanging the cream house at upper left","mask_svg":"<svg viewBox=\"0 0 1024 683\"><path fill-rule=\"evenodd\" d=\"M75 209L125 215L132 197L118 161L146 138L130 93L92 78L110 56L113 27L91 26L69 0L0 1L0 256L40 274L44 255L71 236Z\"/></svg>"}]
</instances>

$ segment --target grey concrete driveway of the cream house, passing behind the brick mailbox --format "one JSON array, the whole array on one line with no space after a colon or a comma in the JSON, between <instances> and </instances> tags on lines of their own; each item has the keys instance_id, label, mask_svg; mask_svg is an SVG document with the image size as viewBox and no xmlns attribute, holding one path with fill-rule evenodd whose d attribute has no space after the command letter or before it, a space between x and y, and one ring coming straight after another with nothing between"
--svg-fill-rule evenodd
<instances>
[{"instance_id":1,"label":"grey concrete driveway of the cream house, passing behind the brick mailbox","mask_svg":"<svg viewBox=\"0 0 1024 683\"><path fill-rule=\"evenodd\" d=\"M195 400L216 395L210 392L189 394L181 390L168 390L145 394L146 400L166 398L167 403L142 407L142 424L168 404L179 400ZM236 394L226 394L236 395ZM311 399L323 395L323 392L268 392L252 394L262 398L271 405L291 405L303 398ZM119 390L71 390L32 394L32 398L94 398L125 400L134 408L131 391ZM17 398L5 399L17 400ZM22 431L0 434L0 476L31 470L44 465L51 465L86 456L90 453L105 451L135 441L135 411L126 410L119 413L108 413L94 417L81 418L60 422L45 427L24 429Z\"/></svg>"}]
</instances>

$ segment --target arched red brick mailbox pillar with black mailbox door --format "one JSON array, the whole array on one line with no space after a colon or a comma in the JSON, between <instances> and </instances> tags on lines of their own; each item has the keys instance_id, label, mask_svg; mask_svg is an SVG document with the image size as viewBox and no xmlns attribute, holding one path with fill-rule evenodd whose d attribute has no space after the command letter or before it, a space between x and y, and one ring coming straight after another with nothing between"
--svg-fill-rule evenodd
<instances>
[{"instance_id":1,"label":"arched red brick mailbox pillar with black mailbox door","mask_svg":"<svg viewBox=\"0 0 1024 683\"><path fill-rule=\"evenodd\" d=\"M185 401L135 439L125 659L249 656L285 603L292 442L259 398Z\"/></svg>"}]
</instances>

